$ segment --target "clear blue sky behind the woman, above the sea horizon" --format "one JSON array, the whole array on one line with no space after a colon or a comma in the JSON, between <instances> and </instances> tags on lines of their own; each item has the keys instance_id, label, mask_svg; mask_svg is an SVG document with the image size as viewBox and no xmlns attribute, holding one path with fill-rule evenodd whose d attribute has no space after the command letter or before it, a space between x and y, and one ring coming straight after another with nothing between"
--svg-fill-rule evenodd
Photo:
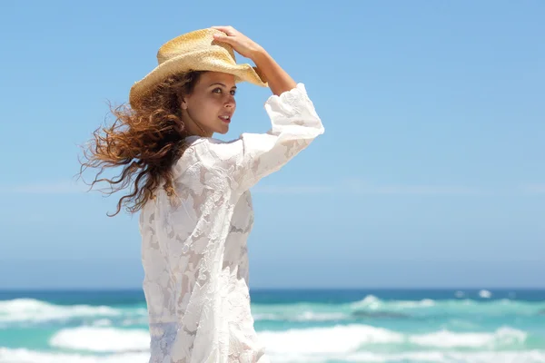
<instances>
[{"instance_id":1,"label":"clear blue sky behind the woman, above the sea horizon","mask_svg":"<svg viewBox=\"0 0 545 363\"><path fill-rule=\"evenodd\" d=\"M253 190L251 288L545 287L545 3L259 6L2 5L0 288L141 286L137 216L81 191L77 145L211 25L262 44L326 129ZM270 94L242 84L218 138L266 132Z\"/></svg>"}]
</instances>

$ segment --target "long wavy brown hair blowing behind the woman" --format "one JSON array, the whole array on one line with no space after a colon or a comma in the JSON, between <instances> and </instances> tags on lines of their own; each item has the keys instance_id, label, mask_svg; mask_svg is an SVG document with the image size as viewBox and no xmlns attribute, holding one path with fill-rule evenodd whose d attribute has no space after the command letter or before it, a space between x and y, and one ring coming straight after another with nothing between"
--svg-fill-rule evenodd
<instances>
[{"instance_id":1,"label":"long wavy brown hair blowing behind the woman","mask_svg":"<svg viewBox=\"0 0 545 363\"><path fill-rule=\"evenodd\" d=\"M180 96L193 93L203 74L191 71L165 79L149 93L137 108L127 103L109 105L115 117L112 125L100 126L83 149L79 177L87 168L98 169L90 190L97 182L109 183L111 195L131 186L131 191L117 202L113 217L124 206L129 213L140 211L146 201L154 199L154 191L163 186L167 195L175 195L172 165L187 148L189 134L181 117ZM121 167L112 179L101 178L106 169ZM83 178L82 178L83 179Z\"/></svg>"}]
</instances>

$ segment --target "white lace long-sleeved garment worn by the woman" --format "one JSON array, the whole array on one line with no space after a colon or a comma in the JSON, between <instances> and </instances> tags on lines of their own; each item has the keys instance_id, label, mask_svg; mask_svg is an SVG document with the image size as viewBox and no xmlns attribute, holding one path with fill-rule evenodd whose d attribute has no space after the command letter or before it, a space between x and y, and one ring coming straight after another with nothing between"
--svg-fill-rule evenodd
<instances>
[{"instance_id":1,"label":"white lace long-sleeved garment worn by the woman","mask_svg":"<svg viewBox=\"0 0 545 363\"><path fill-rule=\"evenodd\" d=\"M265 110L269 132L233 142L188 138L173 165L177 202L159 188L141 211L150 362L269 362L250 310L249 189L324 129L302 83L272 95Z\"/></svg>"}]
</instances>

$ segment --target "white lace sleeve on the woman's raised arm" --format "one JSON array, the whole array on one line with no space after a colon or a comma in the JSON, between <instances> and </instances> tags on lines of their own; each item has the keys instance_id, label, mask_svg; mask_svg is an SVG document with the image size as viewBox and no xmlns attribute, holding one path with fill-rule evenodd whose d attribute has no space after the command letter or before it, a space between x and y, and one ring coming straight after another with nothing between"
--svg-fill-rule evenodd
<instances>
[{"instance_id":1,"label":"white lace sleeve on the woman's raised arm","mask_svg":"<svg viewBox=\"0 0 545 363\"><path fill-rule=\"evenodd\" d=\"M208 148L204 162L223 169L233 189L241 192L282 168L324 132L303 83L269 97L265 111L272 123L269 132L243 133L233 142L204 142Z\"/></svg>"}]
</instances>

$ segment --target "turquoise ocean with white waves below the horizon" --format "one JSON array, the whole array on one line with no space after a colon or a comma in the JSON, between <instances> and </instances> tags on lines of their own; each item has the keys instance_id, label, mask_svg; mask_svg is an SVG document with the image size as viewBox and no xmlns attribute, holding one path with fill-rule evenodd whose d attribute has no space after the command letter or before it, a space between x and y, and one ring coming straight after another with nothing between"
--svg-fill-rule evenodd
<instances>
[{"instance_id":1,"label":"turquoise ocean with white waves below the horizon","mask_svg":"<svg viewBox=\"0 0 545 363\"><path fill-rule=\"evenodd\" d=\"M545 289L252 289L273 363L545 362ZM0 291L2 363L147 363L141 290Z\"/></svg>"}]
</instances>

